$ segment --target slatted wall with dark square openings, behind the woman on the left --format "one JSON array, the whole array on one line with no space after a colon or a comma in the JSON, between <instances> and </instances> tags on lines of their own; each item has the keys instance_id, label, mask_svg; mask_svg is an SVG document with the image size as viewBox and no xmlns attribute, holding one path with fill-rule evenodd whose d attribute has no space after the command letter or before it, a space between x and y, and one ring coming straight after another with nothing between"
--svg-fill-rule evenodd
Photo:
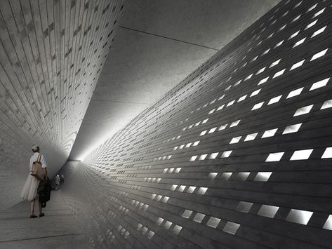
<instances>
[{"instance_id":1,"label":"slatted wall with dark square openings, behind the woman on the left","mask_svg":"<svg viewBox=\"0 0 332 249\"><path fill-rule=\"evenodd\" d=\"M0 208L19 200L32 144L50 175L67 160L123 4L0 1Z\"/></svg>"}]
</instances>

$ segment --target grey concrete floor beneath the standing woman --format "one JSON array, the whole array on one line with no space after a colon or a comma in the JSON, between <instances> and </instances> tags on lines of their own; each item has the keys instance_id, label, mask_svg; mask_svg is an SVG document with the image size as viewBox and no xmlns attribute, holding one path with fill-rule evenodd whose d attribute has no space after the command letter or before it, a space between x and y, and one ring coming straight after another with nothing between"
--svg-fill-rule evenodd
<instances>
[{"instance_id":1,"label":"grey concrete floor beneath the standing woman","mask_svg":"<svg viewBox=\"0 0 332 249\"><path fill-rule=\"evenodd\" d=\"M35 214L39 213L37 205ZM52 191L44 217L29 218L23 201L0 213L0 248L89 248L88 239L63 201Z\"/></svg>"}]
</instances>

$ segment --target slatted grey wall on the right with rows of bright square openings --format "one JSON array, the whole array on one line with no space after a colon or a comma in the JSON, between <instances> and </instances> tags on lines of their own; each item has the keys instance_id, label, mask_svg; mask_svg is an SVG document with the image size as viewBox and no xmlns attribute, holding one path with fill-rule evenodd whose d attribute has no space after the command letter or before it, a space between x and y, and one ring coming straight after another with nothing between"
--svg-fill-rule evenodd
<instances>
[{"instance_id":1,"label":"slatted grey wall on the right with rows of bright square openings","mask_svg":"<svg viewBox=\"0 0 332 249\"><path fill-rule=\"evenodd\" d=\"M96 248L331 248L331 1L281 1L69 162Z\"/></svg>"}]
</instances>

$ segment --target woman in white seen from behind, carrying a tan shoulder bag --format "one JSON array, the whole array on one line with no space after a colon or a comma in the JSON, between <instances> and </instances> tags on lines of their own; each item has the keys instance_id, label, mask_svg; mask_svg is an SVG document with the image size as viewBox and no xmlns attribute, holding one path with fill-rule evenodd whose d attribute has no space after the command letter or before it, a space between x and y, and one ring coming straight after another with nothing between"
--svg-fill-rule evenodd
<instances>
[{"instance_id":1,"label":"woman in white seen from behind, carrying a tan shoulder bag","mask_svg":"<svg viewBox=\"0 0 332 249\"><path fill-rule=\"evenodd\" d=\"M24 199L27 199L28 201L30 201L30 218L36 218L37 216L34 215L34 203L35 203L36 196L37 196L37 189L38 189L38 186L39 186L39 180L36 177L34 177L30 174L32 173L33 163L35 161L37 161L38 156L40 154L39 153L39 147L36 146L36 145L32 146L32 152L34 152L34 154L30 158L29 175L27 176L27 180L25 181L25 185L23 187L21 197L24 198ZM44 174L46 175L46 177L48 177L47 170L46 170L45 157L42 154L41 154L40 161L41 161L41 167L44 170ZM42 211L41 203L39 203L39 217L43 217L45 215L41 211Z\"/></svg>"}]
</instances>

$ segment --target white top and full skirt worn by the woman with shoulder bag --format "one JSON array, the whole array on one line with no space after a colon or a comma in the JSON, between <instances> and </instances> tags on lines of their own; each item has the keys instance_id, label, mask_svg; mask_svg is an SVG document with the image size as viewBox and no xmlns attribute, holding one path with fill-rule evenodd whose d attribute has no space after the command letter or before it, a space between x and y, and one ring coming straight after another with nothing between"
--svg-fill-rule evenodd
<instances>
[{"instance_id":1,"label":"white top and full skirt worn by the woman with shoulder bag","mask_svg":"<svg viewBox=\"0 0 332 249\"><path fill-rule=\"evenodd\" d=\"M27 199L28 201L32 201L34 198L36 198L37 195L39 180L36 177L30 175L30 173L32 173L32 165L34 161L38 159L38 156L39 153L36 152L32 155L30 159L29 175L27 175L27 180L25 181L24 187L21 192L21 197ZM46 161L44 155L41 155L41 166L43 168L46 168Z\"/></svg>"}]
</instances>

